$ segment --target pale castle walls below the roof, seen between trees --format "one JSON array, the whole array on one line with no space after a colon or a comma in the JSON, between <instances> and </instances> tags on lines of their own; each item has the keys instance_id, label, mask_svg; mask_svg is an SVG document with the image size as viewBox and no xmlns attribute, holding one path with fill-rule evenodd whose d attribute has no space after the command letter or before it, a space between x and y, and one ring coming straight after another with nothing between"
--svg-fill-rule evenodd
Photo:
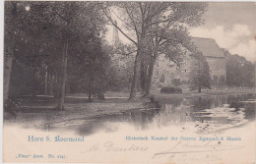
<instances>
[{"instance_id":1,"label":"pale castle walls below the roof, seen between trees","mask_svg":"<svg viewBox=\"0 0 256 164\"><path fill-rule=\"evenodd\" d=\"M181 67L178 68L173 62L165 59L164 55L160 55L158 58L153 76L153 87L161 87L173 85L173 79L179 79L181 83L189 83L190 67L193 59L186 56L181 63ZM226 80L226 69L224 58L211 58L206 57L209 64L209 70L212 85L225 85ZM163 81L164 80L164 81ZM224 82L222 82L224 81Z\"/></svg>"}]
</instances>

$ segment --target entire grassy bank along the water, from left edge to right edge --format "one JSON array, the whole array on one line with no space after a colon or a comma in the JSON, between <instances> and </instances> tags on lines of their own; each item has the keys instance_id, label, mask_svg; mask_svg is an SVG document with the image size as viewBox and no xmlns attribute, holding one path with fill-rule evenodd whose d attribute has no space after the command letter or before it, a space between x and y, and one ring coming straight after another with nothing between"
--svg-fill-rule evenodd
<instances>
[{"instance_id":1,"label":"entire grassy bank along the water, from left edge to right edge","mask_svg":"<svg viewBox=\"0 0 256 164\"><path fill-rule=\"evenodd\" d=\"M167 94L152 92L150 97L154 96L154 102L175 102L184 99L212 96L212 95L235 95L235 94L251 94L255 93L253 89L213 89L202 90L203 92L184 92L182 94ZM40 127L46 124L53 124L57 122L69 120L81 120L101 117L105 115L112 115L115 113L124 112L131 109L147 109L156 107L152 103L150 97L143 98L137 94L134 100L128 100L128 93L122 92L108 92L105 100L94 100L94 102L87 102L85 95L69 95L68 101L65 103L65 110L56 110L56 104L49 100L38 99L37 101L24 101L20 105L17 112L17 118L5 112L5 123L8 124L22 124L25 127Z\"/></svg>"}]
</instances>

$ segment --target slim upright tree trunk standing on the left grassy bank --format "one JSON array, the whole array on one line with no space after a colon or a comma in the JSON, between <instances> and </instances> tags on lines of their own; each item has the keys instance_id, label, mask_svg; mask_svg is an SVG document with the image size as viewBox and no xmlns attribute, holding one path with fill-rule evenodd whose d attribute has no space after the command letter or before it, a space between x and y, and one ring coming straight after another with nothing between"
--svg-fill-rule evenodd
<instances>
[{"instance_id":1,"label":"slim upright tree trunk standing on the left grassy bank","mask_svg":"<svg viewBox=\"0 0 256 164\"><path fill-rule=\"evenodd\" d=\"M64 101L65 101L65 87L66 87L66 81L67 81L67 63L68 63L68 39L66 41L66 44L64 46L64 52L63 52L63 60L62 60L62 77L60 82L60 94L58 97L58 110L64 110Z\"/></svg>"}]
</instances>

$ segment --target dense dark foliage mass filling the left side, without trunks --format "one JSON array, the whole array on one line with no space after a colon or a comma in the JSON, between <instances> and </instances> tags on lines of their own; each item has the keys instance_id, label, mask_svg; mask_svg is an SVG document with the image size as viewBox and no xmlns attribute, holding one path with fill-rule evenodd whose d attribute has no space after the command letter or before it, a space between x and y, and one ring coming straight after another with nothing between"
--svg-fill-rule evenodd
<instances>
[{"instance_id":1,"label":"dense dark foliage mass filling the left side, without trunks","mask_svg":"<svg viewBox=\"0 0 256 164\"><path fill-rule=\"evenodd\" d=\"M84 79L84 86L97 82L91 88L99 87L105 74L102 68L109 61L101 49L106 28L99 8L97 2L5 2L5 57L15 59L11 72L12 93L30 94L33 90L44 93L47 72L53 80L50 84L57 88L54 94L58 94L59 85L64 81L65 53L68 79L77 81L86 75L90 81ZM74 79L71 73L76 66L85 66L78 69L85 75ZM27 91L16 93L15 89L21 87Z\"/></svg>"}]
</instances>

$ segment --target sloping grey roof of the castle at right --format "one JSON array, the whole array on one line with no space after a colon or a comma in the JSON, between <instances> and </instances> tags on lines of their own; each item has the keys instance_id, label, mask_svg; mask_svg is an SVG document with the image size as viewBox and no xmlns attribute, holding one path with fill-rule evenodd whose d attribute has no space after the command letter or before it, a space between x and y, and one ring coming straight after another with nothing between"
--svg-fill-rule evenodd
<instances>
[{"instance_id":1,"label":"sloping grey roof of the castle at right","mask_svg":"<svg viewBox=\"0 0 256 164\"><path fill-rule=\"evenodd\" d=\"M192 37L192 41L206 57L224 58L224 52L213 38Z\"/></svg>"}]
</instances>

